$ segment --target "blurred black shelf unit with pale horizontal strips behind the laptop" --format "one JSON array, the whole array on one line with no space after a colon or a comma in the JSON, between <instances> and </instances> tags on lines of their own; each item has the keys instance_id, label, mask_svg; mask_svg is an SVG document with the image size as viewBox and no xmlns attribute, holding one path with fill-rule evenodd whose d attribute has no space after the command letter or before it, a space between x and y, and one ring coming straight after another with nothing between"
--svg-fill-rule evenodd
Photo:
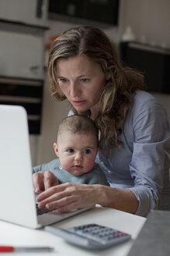
<instances>
[{"instance_id":1,"label":"blurred black shelf unit with pale horizontal strips behind the laptop","mask_svg":"<svg viewBox=\"0 0 170 256\"><path fill-rule=\"evenodd\" d=\"M40 134L43 80L0 76L0 105L21 105L28 114L30 134Z\"/></svg>"}]
</instances>

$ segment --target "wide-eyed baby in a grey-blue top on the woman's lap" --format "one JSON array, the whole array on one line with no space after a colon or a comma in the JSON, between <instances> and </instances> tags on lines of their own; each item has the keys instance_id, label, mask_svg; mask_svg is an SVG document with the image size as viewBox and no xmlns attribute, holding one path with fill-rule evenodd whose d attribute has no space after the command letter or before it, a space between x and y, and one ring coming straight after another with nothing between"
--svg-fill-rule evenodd
<instances>
[{"instance_id":1,"label":"wide-eyed baby in a grey-blue top on the woman's lap","mask_svg":"<svg viewBox=\"0 0 170 256\"><path fill-rule=\"evenodd\" d=\"M53 172L58 183L109 186L102 169L95 163L98 150L99 130L92 119L80 115L68 116L61 122L57 142L54 143L54 151L58 158L33 167L33 173ZM36 188L35 190L39 192Z\"/></svg>"}]
</instances>

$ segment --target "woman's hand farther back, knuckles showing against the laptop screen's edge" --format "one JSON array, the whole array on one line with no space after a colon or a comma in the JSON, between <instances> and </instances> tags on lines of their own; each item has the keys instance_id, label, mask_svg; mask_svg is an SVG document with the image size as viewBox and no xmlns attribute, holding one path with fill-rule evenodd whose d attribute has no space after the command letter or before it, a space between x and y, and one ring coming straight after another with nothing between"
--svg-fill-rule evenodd
<instances>
[{"instance_id":1,"label":"woman's hand farther back, knuckles showing against the laptop screen's edge","mask_svg":"<svg viewBox=\"0 0 170 256\"><path fill-rule=\"evenodd\" d=\"M53 172L36 172L33 173L33 187L36 193L47 190L50 187L58 185L57 177Z\"/></svg>"}]
</instances>

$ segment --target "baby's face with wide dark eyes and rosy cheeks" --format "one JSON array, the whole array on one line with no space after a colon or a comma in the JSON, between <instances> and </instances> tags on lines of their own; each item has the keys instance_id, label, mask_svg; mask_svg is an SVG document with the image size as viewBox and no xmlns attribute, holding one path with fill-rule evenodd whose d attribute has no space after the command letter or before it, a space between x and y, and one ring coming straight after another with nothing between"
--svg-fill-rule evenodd
<instances>
[{"instance_id":1,"label":"baby's face with wide dark eyes and rosy cheeks","mask_svg":"<svg viewBox=\"0 0 170 256\"><path fill-rule=\"evenodd\" d=\"M75 176L81 176L94 167L98 145L91 134L80 135L63 131L57 144L54 144L54 150L63 169Z\"/></svg>"}]
</instances>

